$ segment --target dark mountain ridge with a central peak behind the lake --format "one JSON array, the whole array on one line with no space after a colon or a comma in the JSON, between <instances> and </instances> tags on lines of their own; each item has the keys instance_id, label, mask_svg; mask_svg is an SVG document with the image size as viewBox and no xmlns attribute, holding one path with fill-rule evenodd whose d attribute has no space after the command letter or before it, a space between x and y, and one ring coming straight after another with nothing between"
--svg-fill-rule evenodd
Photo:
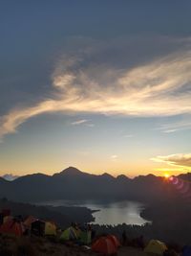
<instances>
[{"instance_id":1,"label":"dark mountain ridge with a central peak behind the lake","mask_svg":"<svg viewBox=\"0 0 191 256\"><path fill-rule=\"evenodd\" d=\"M24 175L8 181L0 178L0 197L17 201L55 199L136 199L149 202L175 196L173 187L155 175L133 179L118 175L91 175L69 167L54 175Z\"/></svg>"}]
</instances>

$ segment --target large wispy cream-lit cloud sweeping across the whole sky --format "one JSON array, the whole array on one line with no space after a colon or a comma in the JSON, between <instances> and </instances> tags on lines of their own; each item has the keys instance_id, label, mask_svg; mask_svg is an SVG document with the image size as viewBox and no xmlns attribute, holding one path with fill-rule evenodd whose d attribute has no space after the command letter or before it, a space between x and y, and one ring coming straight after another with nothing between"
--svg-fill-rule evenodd
<instances>
[{"instance_id":1,"label":"large wispy cream-lit cloud sweeping across the whole sky","mask_svg":"<svg viewBox=\"0 0 191 256\"><path fill-rule=\"evenodd\" d=\"M185 50L126 68L124 59L121 66L109 63L110 58L106 63L103 58L97 60L97 52L107 50L105 45L101 49L101 44L75 56L63 56L53 72L50 98L36 105L15 107L1 116L0 137L16 132L28 119L44 113L136 117L191 113L190 39L180 43Z\"/></svg>"}]
</instances>

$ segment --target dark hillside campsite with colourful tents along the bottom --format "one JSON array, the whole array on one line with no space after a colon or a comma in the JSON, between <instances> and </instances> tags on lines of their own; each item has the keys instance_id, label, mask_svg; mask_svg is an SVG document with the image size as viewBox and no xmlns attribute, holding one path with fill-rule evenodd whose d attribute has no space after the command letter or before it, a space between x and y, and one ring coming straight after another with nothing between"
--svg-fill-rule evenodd
<instances>
[{"instance_id":1,"label":"dark hillside campsite with colourful tents along the bottom","mask_svg":"<svg viewBox=\"0 0 191 256\"><path fill-rule=\"evenodd\" d=\"M94 226L72 222L61 229L53 220L39 220L33 216L11 216L10 209L2 209L0 223L1 256L43 255L156 255L188 256L191 247L166 245L159 240L145 241L142 236L130 239L125 231L121 237L111 233L96 233Z\"/></svg>"}]
</instances>

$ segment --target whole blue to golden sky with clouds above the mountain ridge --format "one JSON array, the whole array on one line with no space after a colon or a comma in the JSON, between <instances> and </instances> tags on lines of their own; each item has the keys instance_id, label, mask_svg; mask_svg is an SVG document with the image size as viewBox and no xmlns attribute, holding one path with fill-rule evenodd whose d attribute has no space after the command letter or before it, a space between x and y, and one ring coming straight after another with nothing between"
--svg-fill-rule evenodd
<instances>
[{"instance_id":1,"label":"whole blue to golden sky with clouds above the mountain ridge","mask_svg":"<svg viewBox=\"0 0 191 256\"><path fill-rule=\"evenodd\" d=\"M189 172L190 10L2 0L0 175Z\"/></svg>"}]
</instances>

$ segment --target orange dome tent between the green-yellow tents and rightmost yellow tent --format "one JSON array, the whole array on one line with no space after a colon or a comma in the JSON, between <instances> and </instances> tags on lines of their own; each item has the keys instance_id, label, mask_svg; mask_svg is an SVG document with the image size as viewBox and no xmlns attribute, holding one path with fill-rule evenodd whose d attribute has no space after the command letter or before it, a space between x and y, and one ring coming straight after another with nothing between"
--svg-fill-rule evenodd
<instances>
[{"instance_id":1,"label":"orange dome tent between the green-yellow tents and rightmost yellow tent","mask_svg":"<svg viewBox=\"0 0 191 256\"><path fill-rule=\"evenodd\" d=\"M100 237L92 245L92 250L103 253L105 255L111 255L117 253L117 246L107 237Z\"/></svg>"}]
</instances>

